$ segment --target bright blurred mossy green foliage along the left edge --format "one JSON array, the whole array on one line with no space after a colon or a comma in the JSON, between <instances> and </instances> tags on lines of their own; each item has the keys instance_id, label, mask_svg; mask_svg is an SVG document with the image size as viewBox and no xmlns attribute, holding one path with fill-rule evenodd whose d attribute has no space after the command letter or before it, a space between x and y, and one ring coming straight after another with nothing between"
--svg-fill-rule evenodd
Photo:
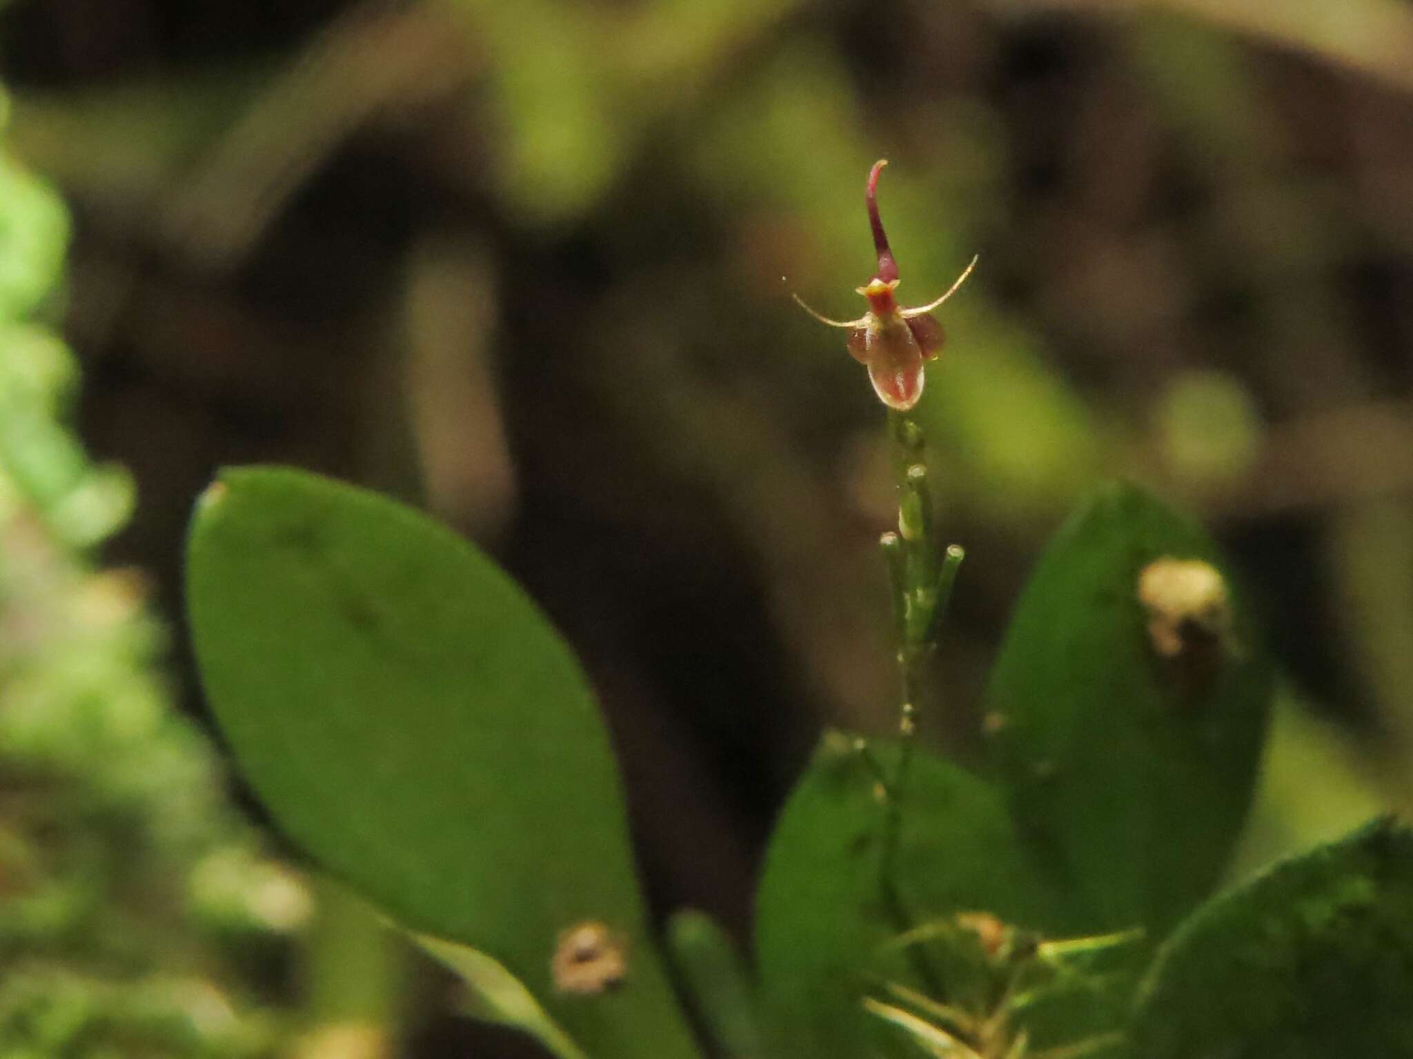
<instances>
[{"instance_id":1,"label":"bright blurred mossy green foliage along the left edge","mask_svg":"<svg viewBox=\"0 0 1413 1059\"><path fill-rule=\"evenodd\" d=\"M0 1052L270 1055L281 1019L242 963L288 949L309 895L174 712L141 575L93 562L131 484L69 425L79 371L47 323L66 240L0 160Z\"/></svg>"}]
</instances>

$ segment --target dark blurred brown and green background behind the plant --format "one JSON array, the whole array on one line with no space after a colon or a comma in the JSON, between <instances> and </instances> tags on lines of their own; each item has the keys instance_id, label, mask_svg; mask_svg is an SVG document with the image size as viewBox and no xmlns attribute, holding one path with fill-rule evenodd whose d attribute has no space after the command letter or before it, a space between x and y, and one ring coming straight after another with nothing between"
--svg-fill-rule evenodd
<instances>
[{"instance_id":1,"label":"dark blurred brown and green background behind the plant","mask_svg":"<svg viewBox=\"0 0 1413 1059\"><path fill-rule=\"evenodd\" d=\"M968 549L926 737L971 753L1123 474L1280 659L1242 864L1413 806L1413 6L11 0L0 47L81 432L137 481L107 559L179 623L223 463L424 504L585 661L656 908L745 935L821 726L892 724L882 408L788 299L859 312L879 157L904 302L981 254L920 412Z\"/></svg>"}]
</instances>

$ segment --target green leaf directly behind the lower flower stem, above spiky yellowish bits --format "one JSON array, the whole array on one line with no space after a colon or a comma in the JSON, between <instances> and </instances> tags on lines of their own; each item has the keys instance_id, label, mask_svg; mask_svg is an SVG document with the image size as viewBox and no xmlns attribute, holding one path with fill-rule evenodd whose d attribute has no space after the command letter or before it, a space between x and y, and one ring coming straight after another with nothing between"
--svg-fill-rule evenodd
<instances>
[{"instance_id":1,"label":"green leaf directly behind the lower flower stem, above spiky yellowish bits","mask_svg":"<svg viewBox=\"0 0 1413 1059\"><path fill-rule=\"evenodd\" d=\"M914 751L903 792L897 904L882 885L886 805L879 775L893 775L899 747L870 740L866 758L842 733L827 733L780 815L756 899L762 997L780 1055L869 1055L865 991L892 980L930 990L896 945L911 926L957 912L1009 923L1060 918L1022 853L999 791L924 751Z\"/></svg>"}]
</instances>

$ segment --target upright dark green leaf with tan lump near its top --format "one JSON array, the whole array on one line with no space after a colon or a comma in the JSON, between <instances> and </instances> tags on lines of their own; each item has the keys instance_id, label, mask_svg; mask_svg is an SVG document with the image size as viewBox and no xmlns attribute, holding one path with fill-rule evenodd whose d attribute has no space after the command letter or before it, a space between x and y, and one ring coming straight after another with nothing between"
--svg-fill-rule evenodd
<instances>
[{"instance_id":1,"label":"upright dark green leaf with tan lump near its top","mask_svg":"<svg viewBox=\"0 0 1413 1059\"><path fill-rule=\"evenodd\" d=\"M1269 702L1201 527L1116 484L1060 530L1012 618L986 727L1017 825L1080 895L1084 929L1160 935L1210 892Z\"/></svg>"}]
</instances>

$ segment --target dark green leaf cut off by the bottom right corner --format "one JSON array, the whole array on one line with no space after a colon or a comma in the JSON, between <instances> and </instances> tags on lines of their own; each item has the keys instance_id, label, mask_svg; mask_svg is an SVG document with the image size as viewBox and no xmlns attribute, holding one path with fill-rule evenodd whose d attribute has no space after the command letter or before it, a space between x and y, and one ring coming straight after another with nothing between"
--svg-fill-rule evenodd
<instances>
[{"instance_id":1,"label":"dark green leaf cut off by the bottom right corner","mask_svg":"<svg viewBox=\"0 0 1413 1059\"><path fill-rule=\"evenodd\" d=\"M1376 822L1204 905L1132 1038L1143 1059L1413 1055L1413 832Z\"/></svg>"}]
</instances>

